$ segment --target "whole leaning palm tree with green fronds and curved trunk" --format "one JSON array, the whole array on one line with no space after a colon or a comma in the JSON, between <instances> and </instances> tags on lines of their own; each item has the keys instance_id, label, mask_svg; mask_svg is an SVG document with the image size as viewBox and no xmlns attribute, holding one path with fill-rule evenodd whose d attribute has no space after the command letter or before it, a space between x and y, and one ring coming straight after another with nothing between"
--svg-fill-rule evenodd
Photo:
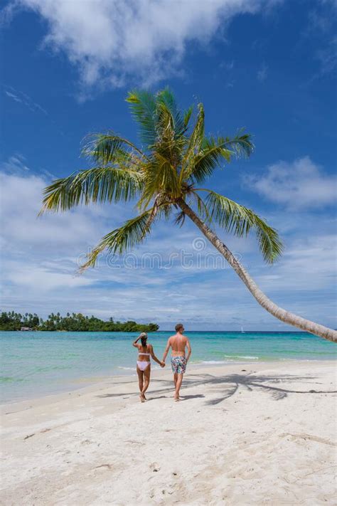
<instances>
[{"instance_id":1,"label":"whole leaning palm tree with green fronds and curved trunk","mask_svg":"<svg viewBox=\"0 0 337 506\"><path fill-rule=\"evenodd\" d=\"M94 266L105 249L122 254L134 248L149 236L156 221L177 211L176 224L182 225L186 216L191 218L265 310L282 322L337 342L335 330L294 315L264 295L211 228L220 226L237 237L254 231L267 263L274 263L282 254L277 231L254 211L216 191L200 188L220 164L232 157L250 156L250 135L242 131L235 137L205 135L203 104L198 104L196 115L193 106L181 112L168 89L156 94L133 90L127 102L139 125L141 148L114 132L90 135L83 154L94 167L57 179L44 191L41 214L67 211L78 204L137 199L137 216L107 233L81 270Z\"/></svg>"}]
</instances>

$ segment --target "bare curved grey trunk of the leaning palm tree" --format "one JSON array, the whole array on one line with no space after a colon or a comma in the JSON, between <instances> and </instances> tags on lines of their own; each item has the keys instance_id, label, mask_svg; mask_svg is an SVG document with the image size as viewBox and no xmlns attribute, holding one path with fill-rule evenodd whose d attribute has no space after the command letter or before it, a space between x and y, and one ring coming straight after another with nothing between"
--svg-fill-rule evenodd
<instances>
[{"instance_id":1,"label":"bare curved grey trunk of the leaning palm tree","mask_svg":"<svg viewBox=\"0 0 337 506\"><path fill-rule=\"evenodd\" d=\"M240 262L235 258L232 252L228 249L225 244L220 241L218 236L205 224L200 218L196 215L196 213L191 209L188 204L183 199L178 199L176 201L178 206L181 208L184 214L186 214L193 223L196 223L196 226L203 233L203 235L208 238L208 241L213 244L213 246L225 257L230 266L235 270L235 273L241 278L243 283L247 286L248 290L253 297L259 302L259 304L264 307L271 315L278 318L282 322L285 322L289 325L294 325L294 327L298 327L301 330L305 330L306 332L310 332L311 334L316 334L324 339L328 339L329 341L337 342L337 332L336 330L329 329L328 327L324 327L324 325L319 325L319 323L311 322L310 320L306 320L300 316L294 315L294 313L284 310L282 307L279 307L277 304L272 302L260 288L257 286L255 281L250 277L245 268L240 264Z\"/></svg>"}]
</instances>

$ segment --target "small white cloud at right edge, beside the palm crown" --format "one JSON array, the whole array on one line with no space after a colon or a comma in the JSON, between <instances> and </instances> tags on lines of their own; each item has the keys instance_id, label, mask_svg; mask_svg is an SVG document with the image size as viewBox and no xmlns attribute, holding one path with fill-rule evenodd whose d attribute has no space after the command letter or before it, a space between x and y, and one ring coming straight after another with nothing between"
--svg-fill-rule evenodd
<instances>
[{"instance_id":1,"label":"small white cloud at right edge, beside the palm crown","mask_svg":"<svg viewBox=\"0 0 337 506\"><path fill-rule=\"evenodd\" d=\"M310 157L277 162L263 176L245 176L244 182L266 199L287 209L312 209L336 201L337 177L324 174Z\"/></svg>"}]
</instances>

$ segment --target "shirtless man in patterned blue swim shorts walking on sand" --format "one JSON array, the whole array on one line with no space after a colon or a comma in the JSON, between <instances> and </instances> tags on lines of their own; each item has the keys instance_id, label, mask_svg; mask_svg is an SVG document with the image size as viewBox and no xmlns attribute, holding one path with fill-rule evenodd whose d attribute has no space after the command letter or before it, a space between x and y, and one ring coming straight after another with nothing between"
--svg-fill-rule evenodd
<instances>
[{"instance_id":1,"label":"shirtless man in patterned blue swim shorts walking on sand","mask_svg":"<svg viewBox=\"0 0 337 506\"><path fill-rule=\"evenodd\" d=\"M178 323L176 325L176 334L169 337L168 339L162 360L162 362L165 363L167 354L169 353L169 349L171 347L171 367L173 372L174 385L176 386L176 393L174 394L175 401L180 401L179 391L181 382L183 381L183 374L186 371L186 364L192 353L191 344L188 341L188 338L183 335L183 331L183 325L181 323ZM185 356L186 347L188 350L187 357Z\"/></svg>"}]
</instances>

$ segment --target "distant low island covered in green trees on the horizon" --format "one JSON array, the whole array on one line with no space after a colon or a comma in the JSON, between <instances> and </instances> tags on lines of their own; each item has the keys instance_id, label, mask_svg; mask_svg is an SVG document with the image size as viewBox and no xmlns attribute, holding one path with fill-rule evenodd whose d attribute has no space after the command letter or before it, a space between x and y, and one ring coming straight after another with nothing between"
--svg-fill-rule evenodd
<instances>
[{"instance_id":1,"label":"distant low island covered in green trees on the horizon","mask_svg":"<svg viewBox=\"0 0 337 506\"><path fill-rule=\"evenodd\" d=\"M107 322L95 316L85 316L82 313L68 312L65 317L60 313L52 312L47 320L38 317L36 313L21 315L18 312L1 312L0 330L42 330L42 331L65 331L65 332L155 332L159 330L156 323L142 324L132 320L127 322L115 322L109 318Z\"/></svg>"}]
</instances>

